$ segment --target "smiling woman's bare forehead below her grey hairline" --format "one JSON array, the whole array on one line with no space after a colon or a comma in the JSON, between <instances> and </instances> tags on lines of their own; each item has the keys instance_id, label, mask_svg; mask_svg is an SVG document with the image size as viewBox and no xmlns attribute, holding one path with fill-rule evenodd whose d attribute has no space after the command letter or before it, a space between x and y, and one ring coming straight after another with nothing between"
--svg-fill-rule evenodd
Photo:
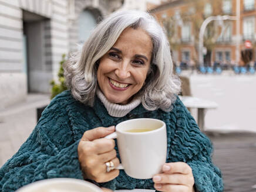
<instances>
[{"instance_id":1,"label":"smiling woman's bare forehead below her grey hairline","mask_svg":"<svg viewBox=\"0 0 256 192\"><path fill-rule=\"evenodd\" d=\"M126 28L123 30L114 47L120 49L129 49L134 52L151 54L153 47L150 36L143 29Z\"/></svg>"}]
</instances>

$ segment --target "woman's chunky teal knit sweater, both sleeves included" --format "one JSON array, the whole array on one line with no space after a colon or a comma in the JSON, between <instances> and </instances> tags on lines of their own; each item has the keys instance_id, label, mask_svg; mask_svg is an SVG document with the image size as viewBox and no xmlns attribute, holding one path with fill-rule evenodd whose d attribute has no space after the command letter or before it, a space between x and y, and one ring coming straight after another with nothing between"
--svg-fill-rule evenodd
<instances>
[{"instance_id":1,"label":"woman's chunky teal knit sweater, both sleeves included","mask_svg":"<svg viewBox=\"0 0 256 192\"><path fill-rule=\"evenodd\" d=\"M126 116L116 118L107 113L99 98L91 108L76 101L70 91L62 92L50 102L28 140L1 167L0 191L15 191L33 181L54 177L83 179L77 152L83 133L132 118L156 118L166 122L166 162L188 163L198 191L223 191L220 170L211 162L211 142L200 132L190 112L178 98L171 112L161 109L147 111L139 105ZM116 179L99 185L112 190L154 189L151 179L134 179L123 170Z\"/></svg>"}]
</instances>

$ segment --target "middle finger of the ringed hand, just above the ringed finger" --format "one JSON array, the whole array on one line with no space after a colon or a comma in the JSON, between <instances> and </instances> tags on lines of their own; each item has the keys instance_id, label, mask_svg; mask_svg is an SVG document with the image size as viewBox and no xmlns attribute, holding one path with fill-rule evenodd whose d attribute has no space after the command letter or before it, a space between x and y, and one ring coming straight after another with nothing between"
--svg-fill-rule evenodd
<instances>
[{"instance_id":1,"label":"middle finger of the ringed hand, just above the ringed finger","mask_svg":"<svg viewBox=\"0 0 256 192\"><path fill-rule=\"evenodd\" d=\"M95 147L95 152L97 154L102 154L102 153L107 153L110 152L111 150L114 149L114 139L106 139L106 138L101 138L101 139L95 139L93 140L93 144Z\"/></svg>"}]
</instances>

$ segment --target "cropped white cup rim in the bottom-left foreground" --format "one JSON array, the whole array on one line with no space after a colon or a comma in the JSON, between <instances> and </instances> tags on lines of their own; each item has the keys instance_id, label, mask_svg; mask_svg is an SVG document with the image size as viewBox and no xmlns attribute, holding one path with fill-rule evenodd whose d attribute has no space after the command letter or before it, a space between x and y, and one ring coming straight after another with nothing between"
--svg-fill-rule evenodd
<instances>
[{"instance_id":1,"label":"cropped white cup rim in the bottom-left foreground","mask_svg":"<svg viewBox=\"0 0 256 192\"><path fill-rule=\"evenodd\" d=\"M36 181L19 188L16 192L102 192L88 181L71 178L55 178Z\"/></svg>"}]
</instances>

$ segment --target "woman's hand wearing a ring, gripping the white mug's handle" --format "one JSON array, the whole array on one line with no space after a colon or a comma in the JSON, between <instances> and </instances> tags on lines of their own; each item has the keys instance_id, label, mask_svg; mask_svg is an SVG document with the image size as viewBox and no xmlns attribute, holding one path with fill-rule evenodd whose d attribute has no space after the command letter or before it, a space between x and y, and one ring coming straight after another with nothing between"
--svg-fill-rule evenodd
<instances>
[{"instance_id":1,"label":"woman's hand wearing a ring, gripping the white mug's handle","mask_svg":"<svg viewBox=\"0 0 256 192\"><path fill-rule=\"evenodd\" d=\"M114 150L114 140L103 138L112 132L114 132L114 126L91 129L83 134L78 145L78 159L84 179L103 183L119 175L118 169L113 169L108 173L106 171L106 162L111 160L114 167L120 163L116 157L116 150Z\"/></svg>"}]
</instances>

